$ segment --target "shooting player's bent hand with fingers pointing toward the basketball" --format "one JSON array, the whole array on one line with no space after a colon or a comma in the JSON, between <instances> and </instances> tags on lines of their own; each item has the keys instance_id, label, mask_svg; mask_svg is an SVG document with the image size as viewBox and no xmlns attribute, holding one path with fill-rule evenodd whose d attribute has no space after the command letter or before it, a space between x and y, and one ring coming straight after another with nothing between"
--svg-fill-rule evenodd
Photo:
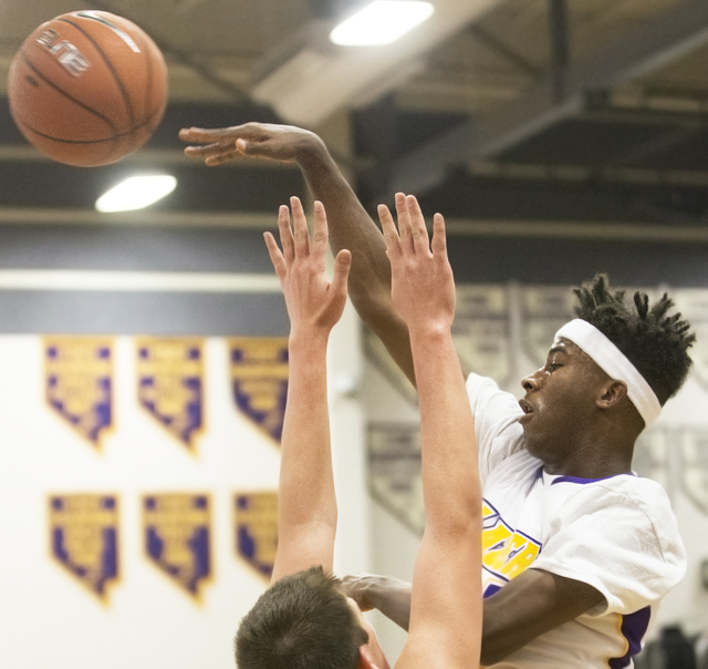
<instances>
[{"instance_id":1,"label":"shooting player's bent hand with fingers pointing toward the basketball","mask_svg":"<svg viewBox=\"0 0 708 669\"><path fill-rule=\"evenodd\" d=\"M308 154L325 151L317 135L294 125L246 123L232 127L205 130L184 127L179 138L205 146L187 146L185 154L204 158L207 165L220 165L239 156L299 163Z\"/></svg>"}]
</instances>

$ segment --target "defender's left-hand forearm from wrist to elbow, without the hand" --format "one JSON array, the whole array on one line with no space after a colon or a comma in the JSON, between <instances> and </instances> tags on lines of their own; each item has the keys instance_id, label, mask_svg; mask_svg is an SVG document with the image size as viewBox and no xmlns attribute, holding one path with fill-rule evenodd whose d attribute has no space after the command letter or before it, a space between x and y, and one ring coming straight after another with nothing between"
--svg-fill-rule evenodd
<instances>
[{"instance_id":1,"label":"defender's left-hand forearm from wrist to elbow, without the hand","mask_svg":"<svg viewBox=\"0 0 708 669\"><path fill-rule=\"evenodd\" d=\"M279 533L320 523L336 527L330 447L326 334L289 342L288 403L280 467Z\"/></svg>"}]
</instances>

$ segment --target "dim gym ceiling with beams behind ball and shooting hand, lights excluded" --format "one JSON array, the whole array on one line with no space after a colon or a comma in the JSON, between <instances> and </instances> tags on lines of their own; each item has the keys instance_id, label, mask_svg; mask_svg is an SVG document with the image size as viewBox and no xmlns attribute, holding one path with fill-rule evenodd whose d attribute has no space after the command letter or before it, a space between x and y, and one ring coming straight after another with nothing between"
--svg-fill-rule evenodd
<instances>
[{"instance_id":1,"label":"dim gym ceiling with beams behind ball and shooting hand, lights excluded","mask_svg":"<svg viewBox=\"0 0 708 669\"><path fill-rule=\"evenodd\" d=\"M430 20L378 48L326 39L351 0L0 2L0 223L270 227L303 193L296 169L207 168L177 138L253 120L319 132L371 210L404 189L461 234L708 241L706 0L433 1ZM170 83L150 143L91 169L43 159L4 97L24 38L81 9L138 23ZM136 169L169 171L178 189L144 212L96 213Z\"/></svg>"}]
</instances>

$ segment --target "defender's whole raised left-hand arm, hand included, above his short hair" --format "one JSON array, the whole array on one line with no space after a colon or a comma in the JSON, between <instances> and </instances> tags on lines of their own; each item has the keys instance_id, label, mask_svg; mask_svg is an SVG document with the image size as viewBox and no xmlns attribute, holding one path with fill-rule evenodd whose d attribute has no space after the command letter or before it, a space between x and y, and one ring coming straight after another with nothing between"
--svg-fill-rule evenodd
<instances>
[{"instance_id":1,"label":"defender's whole raised left-hand arm, hand included, above his short hair","mask_svg":"<svg viewBox=\"0 0 708 669\"><path fill-rule=\"evenodd\" d=\"M282 250L270 233L266 244L280 279L290 317L288 403L281 440L278 494L278 554L271 584L321 565L332 572L336 498L330 449L326 346L346 301L348 251L334 261L332 282L324 274L327 224L315 203L314 231L308 233L302 205L281 207L278 228Z\"/></svg>"}]
</instances>

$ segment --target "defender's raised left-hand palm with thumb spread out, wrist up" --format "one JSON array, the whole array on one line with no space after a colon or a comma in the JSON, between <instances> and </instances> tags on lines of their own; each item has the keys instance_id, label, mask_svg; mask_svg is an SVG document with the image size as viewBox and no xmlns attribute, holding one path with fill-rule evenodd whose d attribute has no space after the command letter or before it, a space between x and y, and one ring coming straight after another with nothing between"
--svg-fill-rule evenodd
<instances>
[{"instance_id":1,"label":"defender's raised left-hand palm with thumb spread out, wrist up","mask_svg":"<svg viewBox=\"0 0 708 669\"><path fill-rule=\"evenodd\" d=\"M266 246L285 296L292 333L312 336L329 334L342 317L346 302L346 279L352 265L352 254L341 250L334 259L332 281L324 272L327 250L327 219L324 206L314 203L312 239L308 222L298 197L290 198L290 212L285 205L278 213L278 229L282 251L270 233L264 233Z\"/></svg>"}]
</instances>

